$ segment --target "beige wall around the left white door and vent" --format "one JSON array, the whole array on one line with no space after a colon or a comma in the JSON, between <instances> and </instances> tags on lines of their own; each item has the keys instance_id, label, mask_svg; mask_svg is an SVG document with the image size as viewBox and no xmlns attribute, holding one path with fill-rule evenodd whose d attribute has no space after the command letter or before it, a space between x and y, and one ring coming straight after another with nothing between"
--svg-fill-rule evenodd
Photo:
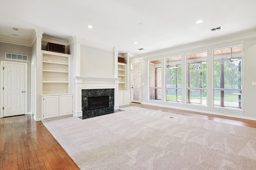
<instances>
[{"instance_id":1,"label":"beige wall around the left white door and vent","mask_svg":"<svg viewBox=\"0 0 256 170\"><path fill-rule=\"evenodd\" d=\"M5 59L5 53L16 53L16 54L23 54L28 55L28 61L22 61L22 63L28 63L28 112L31 112L31 47L27 47L24 45L16 45L11 43L3 43L0 42L0 60L4 61L15 61L20 62L18 60L10 60Z\"/></svg>"}]
</instances>

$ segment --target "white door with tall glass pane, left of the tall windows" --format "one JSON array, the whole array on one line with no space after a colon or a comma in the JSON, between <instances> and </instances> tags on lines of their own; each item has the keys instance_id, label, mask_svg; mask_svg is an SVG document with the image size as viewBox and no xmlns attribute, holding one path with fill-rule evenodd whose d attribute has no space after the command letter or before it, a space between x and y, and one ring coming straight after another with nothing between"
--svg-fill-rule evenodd
<instances>
[{"instance_id":1,"label":"white door with tall glass pane, left of the tall windows","mask_svg":"<svg viewBox=\"0 0 256 170\"><path fill-rule=\"evenodd\" d=\"M141 103L141 73L132 73L131 76L132 102Z\"/></svg>"}]
</instances>

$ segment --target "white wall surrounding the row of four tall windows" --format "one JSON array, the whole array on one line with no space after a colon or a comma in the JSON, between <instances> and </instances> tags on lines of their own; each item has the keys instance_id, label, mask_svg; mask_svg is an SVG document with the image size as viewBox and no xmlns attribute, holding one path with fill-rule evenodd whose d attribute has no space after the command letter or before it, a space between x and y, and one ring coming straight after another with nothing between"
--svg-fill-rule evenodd
<instances>
[{"instance_id":1,"label":"white wall surrounding the row of four tall windows","mask_svg":"<svg viewBox=\"0 0 256 170\"><path fill-rule=\"evenodd\" d=\"M213 107L213 50L218 48L230 47L234 45L242 45L243 47L243 95L242 95L242 111L228 110L228 114L224 114L226 111L223 108ZM195 53L200 51L208 51L208 98L207 107L188 105L186 104L186 54ZM162 101L150 101L148 100L149 92L149 73L148 65L150 60L162 59L162 68L165 68L164 59L166 57L174 57L182 55L182 103L165 102L165 89L162 88ZM140 59L140 58L143 59ZM142 61L142 103L155 106L164 106L177 109L185 109L191 111L200 111L204 113L226 115L231 117L241 117L246 119L256 120L256 86L252 86L252 82L256 82L256 32L248 35L236 35L233 37L226 37L224 39L215 39L214 41L207 41L204 43L192 44L184 47L178 47L158 53L151 53L145 56L138 56L136 58L130 58L130 63L137 63ZM139 71L139 70L138 70ZM134 71L131 71L131 73ZM165 85L164 70L162 71L162 82Z\"/></svg>"}]
</instances>

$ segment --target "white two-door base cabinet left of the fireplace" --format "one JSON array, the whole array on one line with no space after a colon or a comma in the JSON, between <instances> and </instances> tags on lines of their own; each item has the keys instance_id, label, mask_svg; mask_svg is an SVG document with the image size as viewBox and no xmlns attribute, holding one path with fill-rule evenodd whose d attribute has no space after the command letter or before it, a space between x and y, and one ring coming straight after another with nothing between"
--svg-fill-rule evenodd
<instances>
[{"instance_id":1,"label":"white two-door base cabinet left of the fireplace","mask_svg":"<svg viewBox=\"0 0 256 170\"><path fill-rule=\"evenodd\" d=\"M72 94L42 95L43 119L72 115Z\"/></svg>"}]
</instances>

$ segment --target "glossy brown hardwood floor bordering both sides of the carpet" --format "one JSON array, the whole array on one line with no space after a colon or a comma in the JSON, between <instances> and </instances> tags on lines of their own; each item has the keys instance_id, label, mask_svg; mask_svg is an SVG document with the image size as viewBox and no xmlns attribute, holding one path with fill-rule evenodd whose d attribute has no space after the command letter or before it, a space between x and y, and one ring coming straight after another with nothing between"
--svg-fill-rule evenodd
<instances>
[{"instance_id":1,"label":"glossy brown hardwood floor bordering both sides of the carpet","mask_svg":"<svg viewBox=\"0 0 256 170\"><path fill-rule=\"evenodd\" d=\"M256 128L256 121L247 119L136 103L131 103L131 106ZM79 170L79 168L41 121L36 122L32 115L20 115L0 119L0 170Z\"/></svg>"}]
</instances>

